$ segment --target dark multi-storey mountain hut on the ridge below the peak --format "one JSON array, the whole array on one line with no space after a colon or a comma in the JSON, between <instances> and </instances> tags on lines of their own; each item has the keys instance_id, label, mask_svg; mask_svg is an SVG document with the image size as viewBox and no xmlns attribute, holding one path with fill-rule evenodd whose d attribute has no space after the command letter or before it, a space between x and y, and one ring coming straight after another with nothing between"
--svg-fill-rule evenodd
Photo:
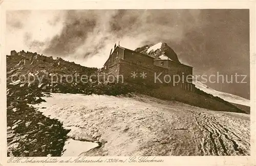
<instances>
[{"instance_id":1,"label":"dark multi-storey mountain hut on the ridge below the peak","mask_svg":"<svg viewBox=\"0 0 256 166\"><path fill-rule=\"evenodd\" d=\"M155 53L153 55L115 45L114 51L111 50L104 64L104 70L115 76L122 75L124 81L144 82L152 86L168 85L195 91L195 85L192 83L193 67L181 64L176 53L170 56L173 60L163 57L164 55L160 57ZM134 76L132 73L137 74ZM143 73L146 74L143 76Z\"/></svg>"}]
</instances>

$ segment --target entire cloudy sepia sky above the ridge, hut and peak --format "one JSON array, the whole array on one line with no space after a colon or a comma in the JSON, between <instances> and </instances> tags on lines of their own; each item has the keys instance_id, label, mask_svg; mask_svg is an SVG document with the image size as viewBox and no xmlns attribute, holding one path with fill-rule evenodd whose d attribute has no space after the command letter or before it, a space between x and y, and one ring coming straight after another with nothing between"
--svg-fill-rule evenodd
<instances>
[{"instance_id":1,"label":"entire cloudy sepia sky above the ridge, hut and peak","mask_svg":"<svg viewBox=\"0 0 256 166\"><path fill-rule=\"evenodd\" d=\"M194 66L195 75L247 75L247 84L206 85L249 98L249 10L7 12L6 54L36 51L102 67L118 41L130 49L166 42L182 63Z\"/></svg>"}]
</instances>

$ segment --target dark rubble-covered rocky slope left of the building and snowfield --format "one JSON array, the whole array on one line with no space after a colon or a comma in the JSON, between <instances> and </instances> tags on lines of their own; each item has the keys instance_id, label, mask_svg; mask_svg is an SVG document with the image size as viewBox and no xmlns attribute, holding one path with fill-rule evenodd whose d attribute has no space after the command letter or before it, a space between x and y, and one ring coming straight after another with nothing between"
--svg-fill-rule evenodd
<instances>
[{"instance_id":1,"label":"dark rubble-covered rocky slope left of the building and snowfield","mask_svg":"<svg viewBox=\"0 0 256 166\"><path fill-rule=\"evenodd\" d=\"M53 60L32 52L15 52L7 56L8 156L60 156L69 130L64 129L58 120L41 115L29 105L45 101L41 97L48 94L41 92L86 95L131 92L128 86L102 80L84 83L65 79L67 75L74 77L76 73L96 74L96 68L83 67L60 58ZM57 80L60 76L62 81Z\"/></svg>"}]
</instances>

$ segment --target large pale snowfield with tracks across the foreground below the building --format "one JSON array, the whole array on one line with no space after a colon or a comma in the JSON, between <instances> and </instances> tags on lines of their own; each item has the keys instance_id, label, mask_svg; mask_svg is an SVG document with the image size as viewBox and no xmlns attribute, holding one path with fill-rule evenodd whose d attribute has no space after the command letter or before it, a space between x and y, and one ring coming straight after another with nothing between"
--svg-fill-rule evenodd
<instances>
[{"instance_id":1,"label":"large pale snowfield with tracks across the foreground below the building","mask_svg":"<svg viewBox=\"0 0 256 166\"><path fill-rule=\"evenodd\" d=\"M198 127L194 121L199 115L202 118L200 122L203 124L203 121L207 121L207 123L208 121L210 121L209 123L218 122L221 126L229 126L228 130L238 133L241 136L241 141L237 142L237 144L243 148L242 150L245 152L245 155L249 155L250 147L246 143L250 141L250 128L248 127L250 115L248 114L217 112L180 102L160 100L138 94L134 94L131 98L125 96L58 93L51 93L51 96L42 97L47 102L33 106L39 107L38 111L43 112L44 115L50 115L50 118L55 117L60 122L63 122L63 127L71 126L72 128L70 128L71 131L68 136L72 138L78 137L78 139L65 142L66 146L63 149L67 150L63 152L62 157L86 157L89 152L81 152L88 151L91 147L87 147L85 142L75 140L91 140L93 139L94 132L101 134L99 142L107 141L101 147L101 151L104 155L108 156L152 155L151 151L145 153L145 149L141 148L152 146L152 141L159 141L159 144L164 144L167 151L168 149L175 150L172 153L168 151L167 155L198 155L201 154L201 151L195 151L195 149L200 144L200 140L195 142L194 137L202 137L206 141L210 141L203 132L194 132L193 130ZM41 109L42 106L46 108ZM189 114L187 110L189 110ZM166 130L164 133L152 132L161 131L165 128L169 128L169 130ZM191 136L190 132L174 130L185 128L191 130L195 135ZM210 129L216 130L216 128ZM219 129L224 130L223 127ZM141 130L143 130L143 134L141 134ZM174 133L178 134L173 136ZM166 144L166 141L168 142L169 139L182 144L179 146ZM237 140L237 137L230 135L231 139ZM238 155L238 152L233 150L232 142L229 140L224 141L226 141L224 144L227 145L227 148L231 147L227 152L230 152L230 155ZM90 144L93 145L93 143ZM96 146L96 144L94 145ZM245 147L245 145L248 146ZM158 148L154 149L157 154L166 155L167 151L163 151L161 146L155 147ZM185 151L184 147L186 147ZM212 151L212 149L207 150L205 155ZM220 147L219 150L219 154L222 154L223 149ZM97 155L97 153L97 151L90 152L90 155Z\"/></svg>"}]
</instances>

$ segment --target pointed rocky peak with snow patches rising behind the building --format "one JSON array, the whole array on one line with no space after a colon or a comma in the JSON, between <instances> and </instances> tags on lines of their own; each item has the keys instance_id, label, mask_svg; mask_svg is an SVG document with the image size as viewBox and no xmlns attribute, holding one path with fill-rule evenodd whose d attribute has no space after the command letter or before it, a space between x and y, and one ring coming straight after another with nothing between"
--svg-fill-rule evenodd
<instances>
[{"instance_id":1,"label":"pointed rocky peak with snow patches rising behind the building","mask_svg":"<svg viewBox=\"0 0 256 166\"><path fill-rule=\"evenodd\" d=\"M176 63L180 63L175 51L170 48L166 43L157 43L151 45L145 45L135 49L136 52L147 54L154 59L159 60L172 60Z\"/></svg>"}]
</instances>

